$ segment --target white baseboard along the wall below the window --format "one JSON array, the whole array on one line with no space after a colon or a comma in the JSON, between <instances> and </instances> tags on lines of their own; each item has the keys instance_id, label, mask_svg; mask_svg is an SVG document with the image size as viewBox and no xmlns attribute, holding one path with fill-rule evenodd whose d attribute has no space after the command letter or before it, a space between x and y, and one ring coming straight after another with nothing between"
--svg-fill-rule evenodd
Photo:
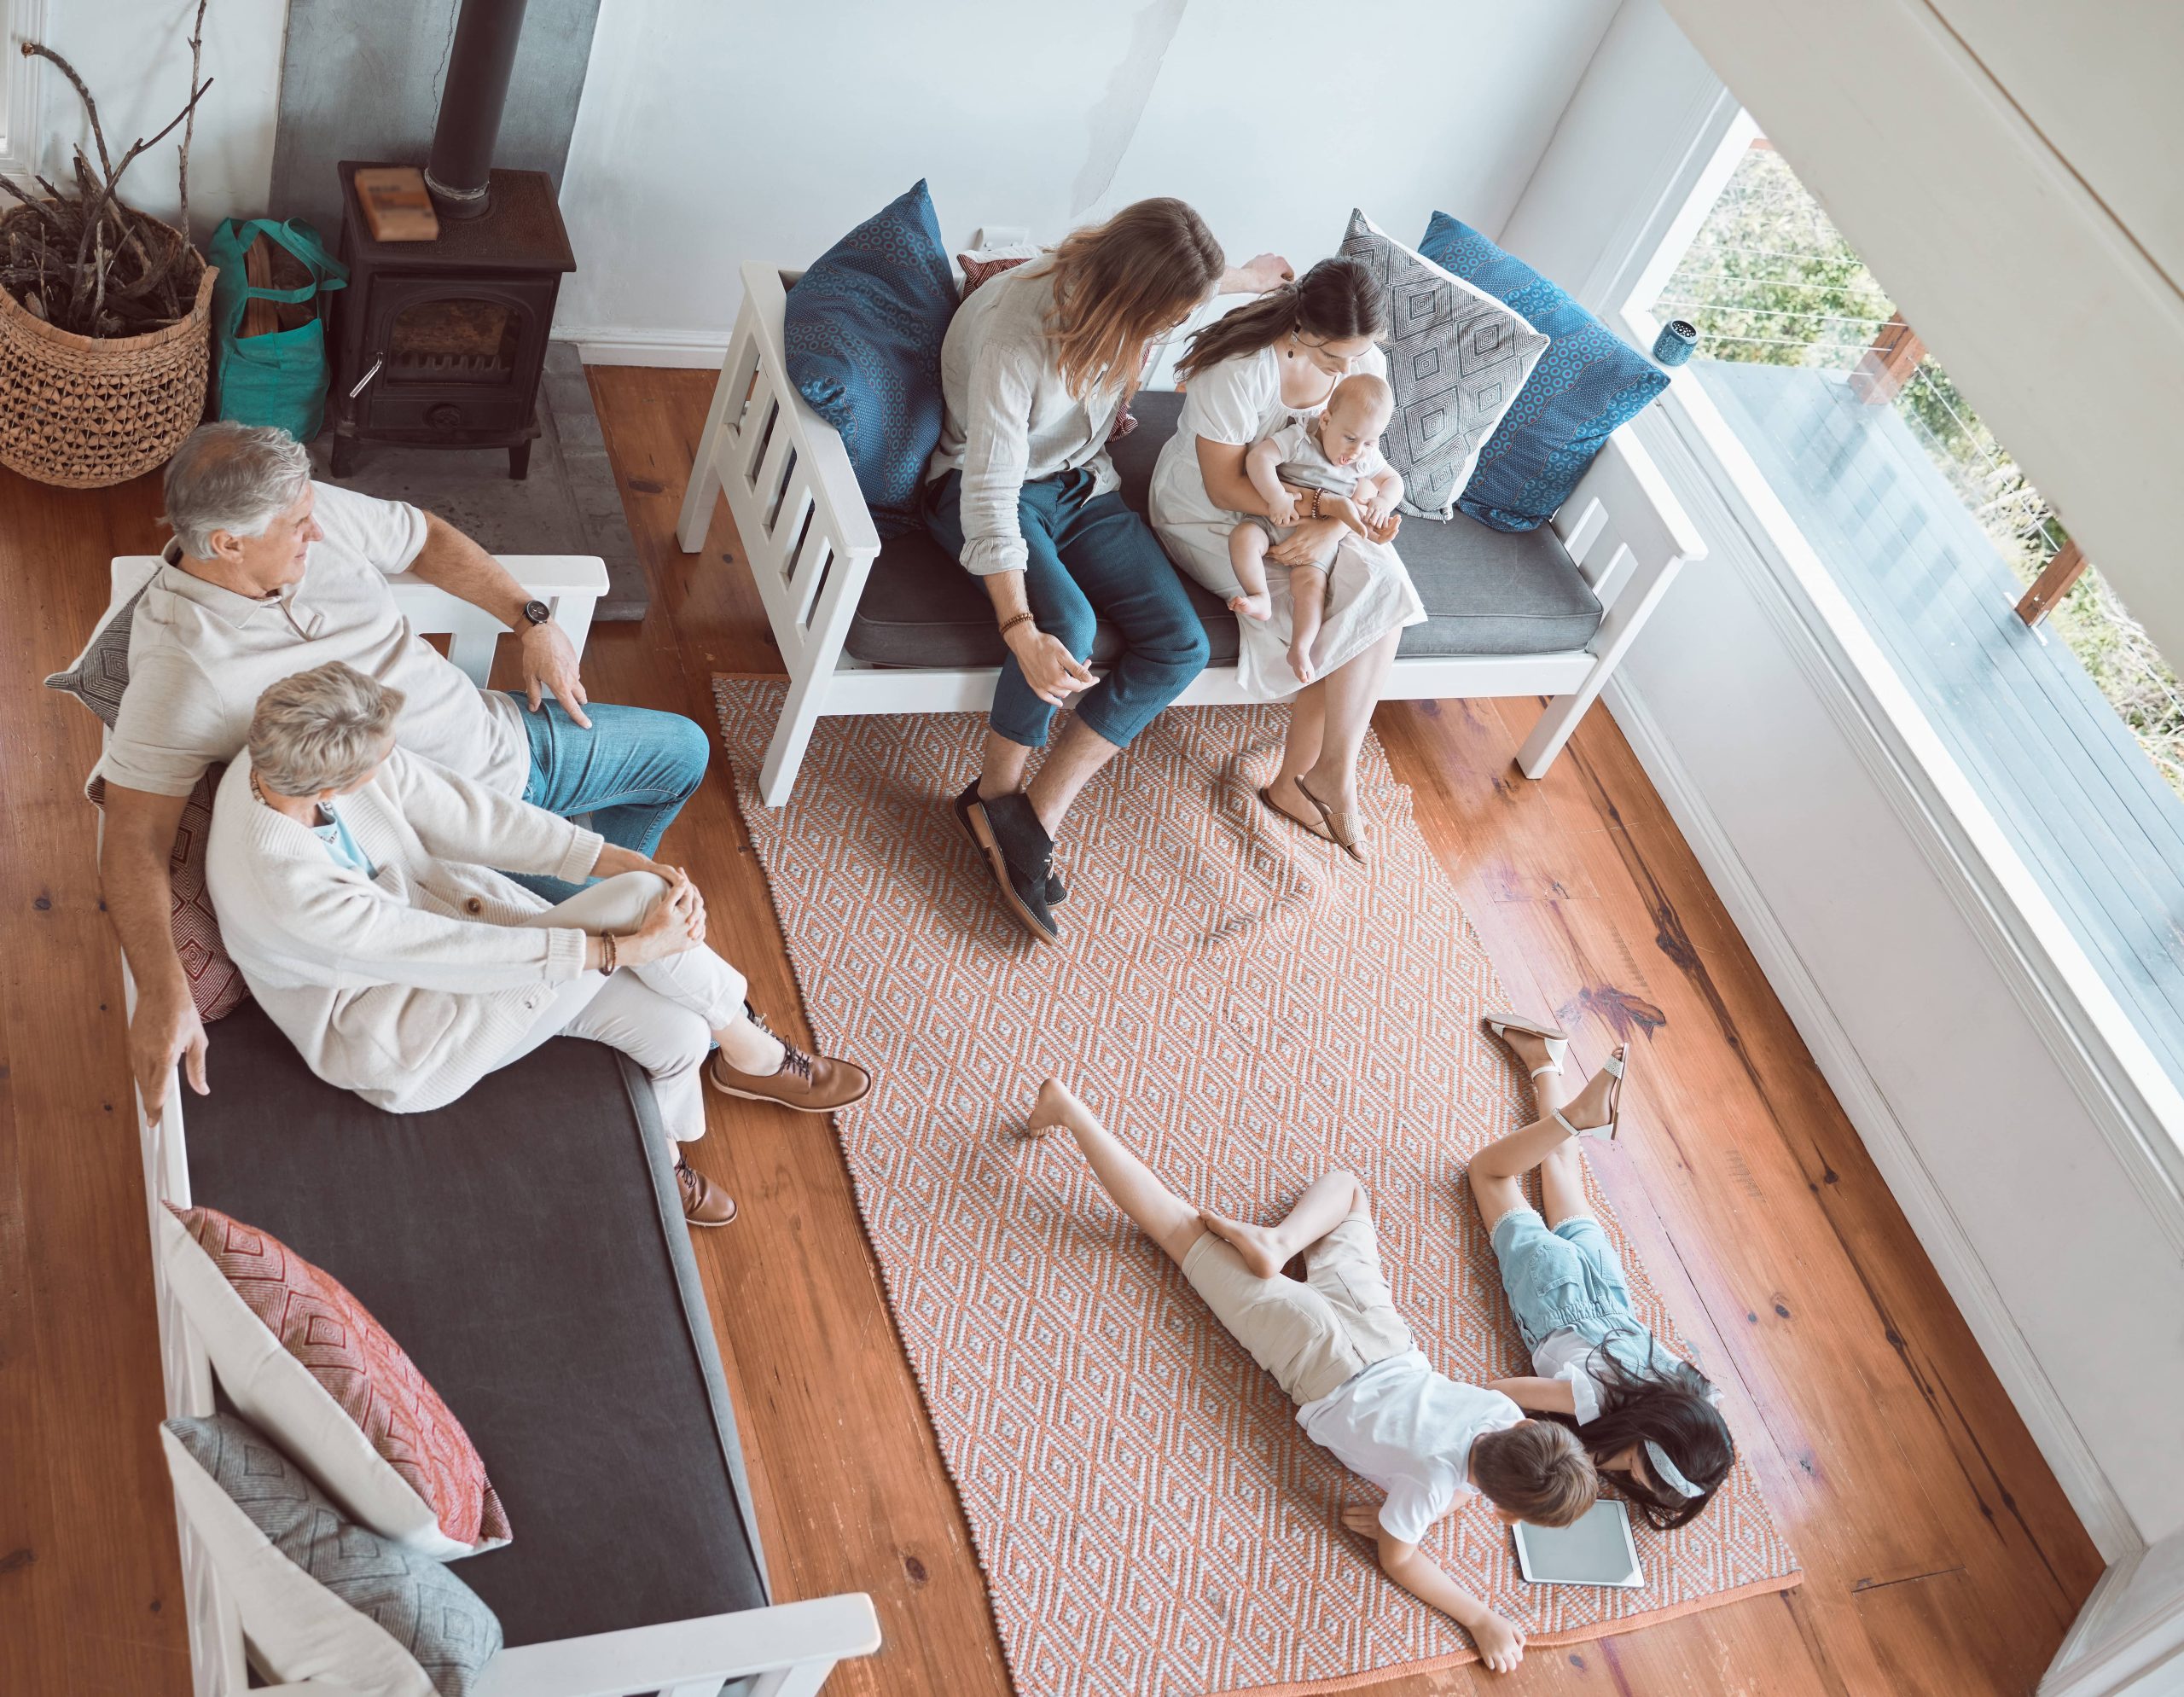
<instances>
[{"instance_id":1,"label":"white baseboard along the wall below the window","mask_svg":"<svg viewBox=\"0 0 2184 1697\"><path fill-rule=\"evenodd\" d=\"M1684 832L1684 841L1690 843L1699 867L1736 922L1736 930L1782 1000L1791 1024L1797 1026L1797 1035L1804 1037L1821 1077L1828 1079L1828 1088L1835 1090L1843 1114L1850 1116L1865 1151L1874 1158L1874 1166L1887 1179L1896 1203L1904 1210L1911 1230L1942 1275L1942 1284L1948 1286L1974 1341L2031 1431L2033 1444L2055 1470L2055 1481L2070 1498L2070 1507L2077 1509L2094 1548L2101 1551L2101 1559L2118 1562L2136 1555L2145 1548L2145 1540L2138 1535L2129 1509L2049 1382L1948 1197L1926 1168L1902 1120L1896 1118L1889 1099L1865 1070L1850 1033L1843 1031L1714 810L1706 804L1690 773L1684 771L1684 762L1647 714L1645 701L1625 675L1618 673L1607 681L1601 701L1614 714L1631 753L1638 756L1638 764L1653 780L1653 788L1677 830Z\"/></svg>"}]
</instances>

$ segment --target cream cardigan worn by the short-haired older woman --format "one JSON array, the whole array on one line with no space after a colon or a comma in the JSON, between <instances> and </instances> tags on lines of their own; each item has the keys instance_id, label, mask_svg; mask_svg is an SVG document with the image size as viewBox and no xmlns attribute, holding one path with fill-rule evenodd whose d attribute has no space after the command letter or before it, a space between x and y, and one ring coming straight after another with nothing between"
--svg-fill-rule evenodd
<instances>
[{"instance_id":1,"label":"cream cardigan worn by the short-haired older woman","mask_svg":"<svg viewBox=\"0 0 2184 1697\"><path fill-rule=\"evenodd\" d=\"M577 882L603 839L402 749L339 806L373 878L251 795L236 756L205 850L221 939L312 1072L393 1114L443 1107L583 972L585 933L526 926L550 904L489 867Z\"/></svg>"}]
</instances>

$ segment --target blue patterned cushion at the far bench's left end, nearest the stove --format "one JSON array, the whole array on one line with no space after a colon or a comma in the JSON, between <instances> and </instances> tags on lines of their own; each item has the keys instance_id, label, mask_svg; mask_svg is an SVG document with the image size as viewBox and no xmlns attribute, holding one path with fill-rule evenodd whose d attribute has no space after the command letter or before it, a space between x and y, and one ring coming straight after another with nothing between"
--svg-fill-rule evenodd
<instances>
[{"instance_id":1,"label":"blue patterned cushion at the far bench's left end, nearest the stove","mask_svg":"<svg viewBox=\"0 0 2184 1697\"><path fill-rule=\"evenodd\" d=\"M882 537L919 529L917 485L941 439L941 339L954 308L924 179L788 290L788 380L841 430Z\"/></svg>"}]
</instances>

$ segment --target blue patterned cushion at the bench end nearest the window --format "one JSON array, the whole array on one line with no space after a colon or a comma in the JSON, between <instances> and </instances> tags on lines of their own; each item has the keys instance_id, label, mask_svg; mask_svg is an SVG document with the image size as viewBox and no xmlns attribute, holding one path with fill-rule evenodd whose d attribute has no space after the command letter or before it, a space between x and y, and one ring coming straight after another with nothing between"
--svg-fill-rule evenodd
<instances>
[{"instance_id":1,"label":"blue patterned cushion at the bench end nearest the window","mask_svg":"<svg viewBox=\"0 0 2184 1697\"><path fill-rule=\"evenodd\" d=\"M1457 502L1496 531L1535 531L1570 498L1607 437L1669 387L1669 373L1529 264L1446 212L1433 214L1417 251L1553 339L1516 406L1479 450L1479 465Z\"/></svg>"}]
</instances>

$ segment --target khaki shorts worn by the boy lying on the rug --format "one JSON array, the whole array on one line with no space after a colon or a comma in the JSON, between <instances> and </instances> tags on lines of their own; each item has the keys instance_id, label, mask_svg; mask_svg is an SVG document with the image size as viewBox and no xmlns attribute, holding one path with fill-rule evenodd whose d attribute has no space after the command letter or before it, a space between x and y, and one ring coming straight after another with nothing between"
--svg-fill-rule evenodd
<instances>
[{"instance_id":1,"label":"khaki shorts worn by the boy lying on the rug","mask_svg":"<svg viewBox=\"0 0 2184 1697\"><path fill-rule=\"evenodd\" d=\"M1190 1245L1184 1278L1299 1409L1413 1348L1380 1275L1372 1214L1345 1214L1306 1249L1302 1284L1260 1278L1212 1232Z\"/></svg>"}]
</instances>

